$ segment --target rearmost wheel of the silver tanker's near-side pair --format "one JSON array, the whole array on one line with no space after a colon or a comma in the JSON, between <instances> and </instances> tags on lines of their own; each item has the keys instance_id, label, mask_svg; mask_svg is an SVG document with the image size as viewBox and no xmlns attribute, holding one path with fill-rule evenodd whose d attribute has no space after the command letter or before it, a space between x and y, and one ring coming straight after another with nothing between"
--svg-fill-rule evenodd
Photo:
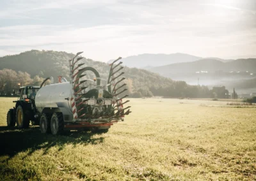
<instances>
[{"instance_id":1,"label":"rearmost wheel of the silver tanker's near-side pair","mask_svg":"<svg viewBox=\"0 0 256 181\"><path fill-rule=\"evenodd\" d=\"M62 113L54 113L51 119L51 131L53 135L63 133L64 120Z\"/></svg>"}]
</instances>

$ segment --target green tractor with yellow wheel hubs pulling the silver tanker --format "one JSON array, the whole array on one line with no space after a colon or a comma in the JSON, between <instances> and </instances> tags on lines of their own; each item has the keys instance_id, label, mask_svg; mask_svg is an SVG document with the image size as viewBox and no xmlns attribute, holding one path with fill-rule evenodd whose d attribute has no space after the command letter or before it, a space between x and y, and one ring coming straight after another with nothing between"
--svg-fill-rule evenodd
<instances>
[{"instance_id":1,"label":"green tractor with yellow wheel hubs pulling the silver tanker","mask_svg":"<svg viewBox=\"0 0 256 181\"><path fill-rule=\"evenodd\" d=\"M38 117L36 117L35 96L40 86L26 85L20 87L19 98L15 107L7 113L7 126L14 127L17 123L19 128L28 128L29 122L33 125L39 125Z\"/></svg>"}]
</instances>

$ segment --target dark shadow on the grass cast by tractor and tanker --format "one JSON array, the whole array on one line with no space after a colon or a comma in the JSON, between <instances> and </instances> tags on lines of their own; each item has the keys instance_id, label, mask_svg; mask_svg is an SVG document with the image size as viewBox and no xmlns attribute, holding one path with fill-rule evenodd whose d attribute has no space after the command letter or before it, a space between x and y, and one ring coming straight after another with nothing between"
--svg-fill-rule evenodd
<instances>
[{"instance_id":1,"label":"dark shadow on the grass cast by tractor and tanker","mask_svg":"<svg viewBox=\"0 0 256 181\"><path fill-rule=\"evenodd\" d=\"M43 149L47 154L49 148L58 145L59 150L65 147L66 143L77 144L99 144L104 141L103 137L93 138L95 133L84 131L65 131L60 136L40 133L39 127L29 129L17 129L0 126L0 156L9 156L11 159L19 152L30 150L28 155L36 150Z\"/></svg>"}]
</instances>

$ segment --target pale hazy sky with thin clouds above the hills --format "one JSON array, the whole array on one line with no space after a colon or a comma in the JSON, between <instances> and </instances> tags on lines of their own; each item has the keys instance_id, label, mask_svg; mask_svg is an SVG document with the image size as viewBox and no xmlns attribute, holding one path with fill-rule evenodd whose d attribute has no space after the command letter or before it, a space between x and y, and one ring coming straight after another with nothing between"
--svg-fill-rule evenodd
<instances>
[{"instance_id":1,"label":"pale hazy sky with thin clouds above the hills","mask_svg":"<svg viewBox=\"0 0 256 181\"><path fill-rule=\"evenodd\" d=\"M256 57L256 0L1 0L0 56L31 49Z\"/></svg>"}]
</instances>

